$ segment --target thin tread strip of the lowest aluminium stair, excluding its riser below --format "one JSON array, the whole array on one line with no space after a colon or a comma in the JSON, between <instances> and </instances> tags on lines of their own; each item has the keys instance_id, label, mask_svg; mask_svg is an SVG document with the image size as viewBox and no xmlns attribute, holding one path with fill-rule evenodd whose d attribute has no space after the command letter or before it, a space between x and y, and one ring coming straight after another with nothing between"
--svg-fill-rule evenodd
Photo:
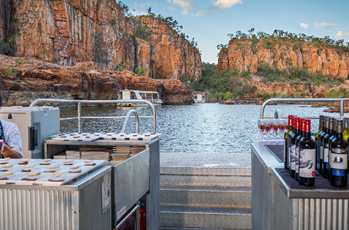
<instances>
[{"instance_id":1,"label":"thin tread strip of the lowest aluminium stair, excluding its riser below","mask_svg":"<svg viewBox=\"0 0 349 230\"><path fill-rule=\"evenodd\" d=\"M202 207L202 206L160 206L160 213L191 213L206 215L250 215L251 208L224 208L224 207Z\"/></svg>"}]
</instances>

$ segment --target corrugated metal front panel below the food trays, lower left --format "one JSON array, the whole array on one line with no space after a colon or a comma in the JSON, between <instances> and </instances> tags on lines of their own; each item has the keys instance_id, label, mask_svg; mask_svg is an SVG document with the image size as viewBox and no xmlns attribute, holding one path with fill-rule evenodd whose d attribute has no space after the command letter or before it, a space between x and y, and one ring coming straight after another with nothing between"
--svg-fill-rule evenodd
<instances>
[{"instance_id":1,"label":"corrugated metal front panel below the food trays, lower left","mask_svg":"<svg viewBox=\"0 0 349 230\"><path fill-rule=\"evenodd\" d=\"M0 229L76 229L72 203L73 192L0 189Z\"/></svg>"}]
</instances>

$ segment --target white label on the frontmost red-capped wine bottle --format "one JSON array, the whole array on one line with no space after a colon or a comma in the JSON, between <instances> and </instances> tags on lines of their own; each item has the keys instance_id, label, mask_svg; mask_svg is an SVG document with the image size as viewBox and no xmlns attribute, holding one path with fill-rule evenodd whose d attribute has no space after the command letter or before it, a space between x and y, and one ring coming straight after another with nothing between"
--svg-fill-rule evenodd
<instances>
[{"instance_id":1,"label":"white label on the frontmost red-capped wine bottle","mask_svg":"<svg viewBox=\"0 0 349 230\"><path fill-rule=\"evenodd\" d=\"M315 177L315 148L299 151L299 176L306 178Z\"/></svg>"}]
</instances>

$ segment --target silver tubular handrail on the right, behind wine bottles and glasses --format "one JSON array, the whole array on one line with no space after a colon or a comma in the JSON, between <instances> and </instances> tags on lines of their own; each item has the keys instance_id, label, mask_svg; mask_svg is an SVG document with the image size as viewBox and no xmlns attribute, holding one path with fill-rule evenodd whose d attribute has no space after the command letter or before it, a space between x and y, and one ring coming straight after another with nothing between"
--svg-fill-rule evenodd
<instances>
[{"instance_id":1,"label":"silver tubular handrail on the right, behind wine bottles and glasses","mask_svg":"<svg viewBox=\"0 0 349 230\"><path fill-rule=\"evenodd\" d=\"M344 102L349 102L349 98L271 98L266 100L262 108L260 108L260 118L274 118L272 116L264 116L265 106L267 106L270 102L341 102L340 105L340 116L344 115ZM288 118L288 117L283 117ZM317 116L307 117L316 119Z\"/></svg>"}]
</instances>

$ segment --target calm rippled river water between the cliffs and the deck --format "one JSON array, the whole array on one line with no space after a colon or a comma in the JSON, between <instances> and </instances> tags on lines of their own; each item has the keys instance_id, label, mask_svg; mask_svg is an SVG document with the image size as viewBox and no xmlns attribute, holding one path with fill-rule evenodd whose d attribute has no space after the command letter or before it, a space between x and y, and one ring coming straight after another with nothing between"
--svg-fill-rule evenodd
<instances>
[{"instance_id":1,"label":"calm rippled river water between the cliffs and the deck","mask_svg":"<svg viewBox=\"0 0 349 230\"><path fill-rule=\"evenodd\" d=\"M241 153L249 152L249 137L258 132L257 120L261 105L164 105L156 107L156 132L161 133L161 151L184 153ZM140 116L150 116L146 107L84 107L82 116L124 116L129 109L136 109ZM281 109L283 116L318 116L325 107L313 108L302 105L269 105L265 116L273 116ZM76 116L75 108L61 109L61 117ZM338 116L338 114L330 114ZM85 120L82 131L118 132L124 120ZM317 130L313 122L312 131ZM77 121L61 122L61 130L77 131ZM135 122L128 125L127 132L135 132ZM152 132L152 120L140 121L140 132Z\"/></svg>"}]
</instances>

